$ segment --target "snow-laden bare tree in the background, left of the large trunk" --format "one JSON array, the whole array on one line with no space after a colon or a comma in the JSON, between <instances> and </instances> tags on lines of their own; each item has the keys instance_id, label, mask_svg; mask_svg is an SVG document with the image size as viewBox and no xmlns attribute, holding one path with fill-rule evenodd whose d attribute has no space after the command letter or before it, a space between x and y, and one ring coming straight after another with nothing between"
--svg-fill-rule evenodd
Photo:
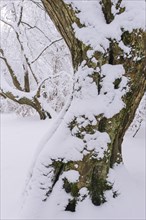
<instances>
[{"instance_id":1,"label":"snow-laden bare tree in the background, left of the large trunk","mask_svg":"<svg viewBox=\"0 0 146 220\"><path fill-rule=\"evenodd\" d=\"M64 105L70 84L70 56L64 41L51 28L44 10L31 1L1 3L0 24L2 97L18 103L17 112L26 113L31 107L41 119L53 116Z\"/></svg>"}]
</instances>

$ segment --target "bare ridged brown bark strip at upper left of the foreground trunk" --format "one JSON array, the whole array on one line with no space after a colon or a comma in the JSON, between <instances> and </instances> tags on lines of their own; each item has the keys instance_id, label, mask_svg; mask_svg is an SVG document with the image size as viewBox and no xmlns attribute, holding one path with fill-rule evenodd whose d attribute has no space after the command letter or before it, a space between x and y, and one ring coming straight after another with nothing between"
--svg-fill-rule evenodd
<instances>
[{"instance_id":1,"label":"bare ridged brown bark strip at upper left of the foreground trunk","mask_svg":"<svg viewBox=\"0 0 146 220\"><path fill-rule=\"evenodd\" d=\"M81 26L79 19L75 16L75 12L68 7L64 1L42 1L50 18L54 22L56 28L61 33L72 55L74 69L84 60L85 49L83 43L76 37L72 27L75 22Z\"/></svg>"}]
</instances>

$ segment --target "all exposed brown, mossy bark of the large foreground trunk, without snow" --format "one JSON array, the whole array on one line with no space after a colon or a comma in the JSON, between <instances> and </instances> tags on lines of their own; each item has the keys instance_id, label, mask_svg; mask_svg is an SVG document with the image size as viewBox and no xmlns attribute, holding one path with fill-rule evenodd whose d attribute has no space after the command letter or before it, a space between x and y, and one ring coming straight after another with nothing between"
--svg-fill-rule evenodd
<instances>
[{"instance_id":1,"label":"all exposed brown, mossy bark of the large foreground trunk, without snow","mask_svg":"<svg viewBox=\"0 0 146 220\"><path fill-rule=\"evenodd\" d=\"M75 37L72 24L74 22L78 26L81 26L81 24L71 5L65 4L63 0L42 0L42 3L70 49L75 71L83 60L86 61L88 67L92 67L93 69L101 67L105 63L112 65L123 64L126 71L125 75L130 79L129 92L123 97L126 107L110 119L105 118L103 115L96 115L95 125L89 123L86 127L81 127L76 134L76 137L83 139L83 132L86 134L94 134L97 130L100 132L107 132L110 136L111 143L108 145L108 151L104 158L99 160L95 159L93 157L93 151L91 151L88 155L83 157L82 161L70 161L67 163L55 161L52 164L55 169L55 177L52 189L49 189L46 194L46 199L53 190L60 174L68 170L77 170L80 174L79 181L73 184L64 179L63 186L65 191L70 193L73 197L73 199L69 201L66 210L75 211L75 206L79 197L79 190L82 187L87 187L89 190L93 204L100 205L105 202L104 191L111 189L111 186L106 180L108 171L115 163L122 162L121 144L123 137L134 118L135 111L143 97L146 86L146 34L141 30L134 30L132 33L123 32L122 40L124 44L131 46L134 49L131 58L125 58L118 43L111 41L108 54L104 55L98 51L95 52L94 58L100 61L95 65L95 63L87 58L86 55L90 48L85 46ZM118 1L117 7L120 6L120 3L121 1ZM113 20L111 1L103 0L101 1L101 5L105 20L109 24ZM124 9L121 8L119 13L122 13L123 11ZM143 59L134 62L133 58L137 52L143 56ZM100 77L98 73L96 71L93 72L91 77L96 83L100 94ZM118 88L119 83L120 79L115 81L115 89ZM86 120L85 115L81 116ZM75 126L78 126L77 118L78 116L75 116L69 124L71 132ZM113 197L115 197L115 195L116 194L113 192Z\"/></svg>"}]
</instances>

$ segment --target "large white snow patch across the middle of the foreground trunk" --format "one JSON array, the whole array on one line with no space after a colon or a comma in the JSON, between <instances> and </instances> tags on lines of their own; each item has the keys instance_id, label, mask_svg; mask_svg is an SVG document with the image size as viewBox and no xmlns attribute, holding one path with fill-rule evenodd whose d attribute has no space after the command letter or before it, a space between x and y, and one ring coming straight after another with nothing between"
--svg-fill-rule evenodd
<instances>
[{"instance_id":1,"label":"large white snow patch across the middle of the foreground trunk","mask_svg":"<svg viewBox=\"0 0 146 220\"><path fill-rule=\"evenodd\" d=\"M75 73L74 100L70 112L71 115L86 115L87 118L103 114L111 118L125 107L122 97L128 92L128 79L125 76L123 65L104 64L97 68L101 76L101 91L98 94L97 86L91 75L94 69L89 68L83 61ZM115 88L115 81L119 85Z\"/></svg>"}]
</instances>

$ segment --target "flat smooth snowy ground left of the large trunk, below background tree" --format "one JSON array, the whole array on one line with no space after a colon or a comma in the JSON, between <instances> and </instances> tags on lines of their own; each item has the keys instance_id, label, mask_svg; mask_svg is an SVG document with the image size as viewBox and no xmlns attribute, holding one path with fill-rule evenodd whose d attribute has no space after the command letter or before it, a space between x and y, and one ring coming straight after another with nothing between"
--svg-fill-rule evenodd
<instances>
[{"instance_id":1,"label":"flat smooth snowy ground left of the large trunk, below background tree","mask_svg":"<svg viewBox=\"0 0 146 220\"><path fill-rule=\"evenodd\" d=\"M1 218L15 219L14 212L26 184L36 147L49 121L1 115ZM46 125L46 127L45 127Z\"/></svg>"}]
</instances>

